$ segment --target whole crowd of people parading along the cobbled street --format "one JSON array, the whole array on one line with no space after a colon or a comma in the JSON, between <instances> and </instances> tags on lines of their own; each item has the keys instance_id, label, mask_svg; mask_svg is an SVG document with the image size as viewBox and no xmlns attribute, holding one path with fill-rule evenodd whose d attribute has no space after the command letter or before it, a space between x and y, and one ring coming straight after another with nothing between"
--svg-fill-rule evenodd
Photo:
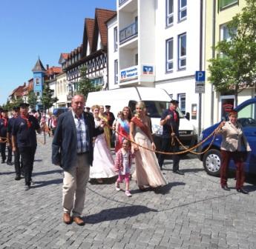
<instances>
[{"instance_id":1,"label":"whole crowd of people parading along the cobbled street","mask_svg":"<svg viewBox=\"0 0 256 249\"><path fill-rule=\"evenodd\" d=\"M179 145L174 139L179 136L180 116L176 110L178 103L177 100L171 100L170 107L161 117L163 142L160 150L163 152L179 151ZM35 110L29 113L28 107L25 103L14 107L13 117L10 119L7 117L7 110L0 110L1 163L5 163L7 159L7 164L12 165L13 152L15 179L20 180L23 175L24 190L29 190L36 153L36 133L45 130L49 136L53 134L52 162L64 170L62 207L63 221L66 224L72 221L77 225L85 224L82 210L89 180L95 179L102 184L105 179L116 179L116 191L120 191L122 182L125 182L125 195L128 197L131 197L131 179L136 181L141 191L159 189L167 184L161 172L165 154L160 153L157 158L154 152L156 145L151 135L151 119L144 102L137 102L135 113L132 113L130 107L123 107L116 119L110 111L110 105L105 105L105 108L98 104L91 108L85 107L85 97L82 94L73 96L70 110L62 113L58 119L51 113ZM229 190L226 170L229 160L233 158L237 163L237 191L246 193L243 189L243 161L246 153L242 150L248 151L249 145L244 140L242 128L236 123L235 113L232 115L230 122L223 122L218 130L219 133L226 134L223 135L221 187ZM45 127L50 128L47 130ZM230 130L239 133L246 146L236 147L234 150L227 147L229 142L226 137ZM114 159L111 154L112 135L115 140ZM241 152L236 153L237 150ZM131 176L133 160L135 167ZM175 154L173 161L173 172L183 175L179 168L180 156Z\"/></svg>"}]
</instances>

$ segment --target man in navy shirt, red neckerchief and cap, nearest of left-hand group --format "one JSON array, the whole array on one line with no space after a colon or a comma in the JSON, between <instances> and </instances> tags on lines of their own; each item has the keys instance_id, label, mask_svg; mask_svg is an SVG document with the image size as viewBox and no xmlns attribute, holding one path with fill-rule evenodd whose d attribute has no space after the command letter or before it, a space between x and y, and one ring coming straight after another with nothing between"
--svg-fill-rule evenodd
<instances>
[{"instance_id":1,"label":"man in navy shirt, red neckerchief and cap, nearest of left-hand group","mask_svg":"<svg viewBox=\"0 0 256 249\"><path fill-rule=\"evenodd\" d=\"M15 119L12 130L13 151L16 151L16 145L22 156L24 167L24 190L29 190L31 185L31 176L33 171L33 162L36 153L36 131L41 132L38 120L28 114L29 104L22 103L20 107L20 116Z\"/></svg>"}]
</instances>

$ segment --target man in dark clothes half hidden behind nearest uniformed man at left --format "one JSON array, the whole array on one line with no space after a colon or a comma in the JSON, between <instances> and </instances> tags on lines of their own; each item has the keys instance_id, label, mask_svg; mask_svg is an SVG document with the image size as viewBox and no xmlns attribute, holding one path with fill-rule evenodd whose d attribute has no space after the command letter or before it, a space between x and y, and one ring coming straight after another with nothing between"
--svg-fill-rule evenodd
<instances>
[{"instance_id":1,"label":"man in dark clothes half hidden behind nearest uniformed man at left","mask_svg":"<svg viewBox=\"0 0 256 249\"><path fill-rule=\"evenodd\" d=\"M13 144L12 144L12 131L13 131L13 123L15 122L16 118L19 116L19 107L13 107L13 117L9 119L8 125L7 125L7 139L9 141L9 146L11 150L13 150ZM16 181L19 181L21 179L21 174L23 174L23 167L22 167L22 161L20 160L20 153L19 149L16 145L16 151L14 152L14 166L15 166L15 172Z\"/></svg>"}]
</instances>

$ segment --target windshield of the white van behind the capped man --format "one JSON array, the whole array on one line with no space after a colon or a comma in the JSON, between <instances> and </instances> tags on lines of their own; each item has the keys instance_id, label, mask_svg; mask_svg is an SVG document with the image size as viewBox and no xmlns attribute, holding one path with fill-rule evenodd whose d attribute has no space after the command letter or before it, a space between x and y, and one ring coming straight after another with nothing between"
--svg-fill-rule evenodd
<instances>
[{"instance_id":1,"label":"windshield of the white van behind the capped man","mask_svg":"<svg viewBox=\"0 0 256 249\"><path fill-rule=\"evenodd\" d=\"M170 102L160 102L160 101L144 101L147 107L148 116L151 118L160 118L165 109L169 108ZM177 112L181 119L184 118L183 113L180 108L177 107Z\"/></svg>"}]
</instances>

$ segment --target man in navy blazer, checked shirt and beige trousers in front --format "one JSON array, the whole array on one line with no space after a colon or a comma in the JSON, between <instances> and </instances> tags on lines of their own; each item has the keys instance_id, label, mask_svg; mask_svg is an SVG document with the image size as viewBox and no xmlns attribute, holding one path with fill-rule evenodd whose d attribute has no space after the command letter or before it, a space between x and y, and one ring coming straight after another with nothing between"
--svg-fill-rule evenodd
<instances>
[{"instance_id":1,"label":"man in navy blazer, checked shirt and beige trousers in front","mask_svg":"<svg viewBox=\"0 0 256 249\"><path fill-rule=\"evenodd\" d=\"M93 116L84 111L85 96L82 94L73 96L71 107L70 111L58 118L53 137L52 162L64 170L63 221L70 224L73 220L77 225L85 225L81 215L93 162L93 136L103 133L105 124L95 128ZM70 216L71 212L73 217Z\"/></svg>"}]
</instances>

